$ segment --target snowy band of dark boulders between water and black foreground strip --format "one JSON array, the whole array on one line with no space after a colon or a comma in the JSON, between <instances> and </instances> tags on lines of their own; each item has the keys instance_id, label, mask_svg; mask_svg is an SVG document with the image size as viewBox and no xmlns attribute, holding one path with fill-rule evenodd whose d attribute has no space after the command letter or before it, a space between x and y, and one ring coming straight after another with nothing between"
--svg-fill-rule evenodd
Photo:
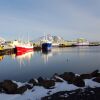
<instances>
[{"instance_id":1,"label":"snowy band of dark boulders between water and black foreground strip","mask_svg":"<svg viewBox=\"0 0 100 100\"><path fill-rule=\"evenodd\" d=\"M41 100L57 92L84 90L88 87L100 87L100 73L97 70L82 75L65 72L61 75L55 74L51 79L39 77L27 83L5 80L0 82L0 100Z\"/></svg>"}]
</instances>

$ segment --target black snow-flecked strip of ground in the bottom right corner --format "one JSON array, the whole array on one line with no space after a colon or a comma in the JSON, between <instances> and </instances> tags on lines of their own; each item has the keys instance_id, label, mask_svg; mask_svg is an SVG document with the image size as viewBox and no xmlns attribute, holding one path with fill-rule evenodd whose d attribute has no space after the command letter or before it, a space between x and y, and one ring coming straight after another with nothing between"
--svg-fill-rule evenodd
<instances>
[{"instance_id":1,"label":"black snow-flecked strip of ground in the bottom right corner","mask_svg":"<svg viewBox=\"0 0 100 100\"><path fill-rule=\"evenodd\" d=\"M41 100L100 100L100 88L60 91L43 97Z\"/></svg>"}]
</instances>

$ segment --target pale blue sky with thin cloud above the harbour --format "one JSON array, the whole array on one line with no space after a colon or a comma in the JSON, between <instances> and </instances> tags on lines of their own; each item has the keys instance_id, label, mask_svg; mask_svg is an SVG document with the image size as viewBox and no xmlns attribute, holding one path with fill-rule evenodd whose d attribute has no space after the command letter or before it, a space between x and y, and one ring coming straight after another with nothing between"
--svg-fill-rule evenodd
<instances>
[{"instance_id":1,"label":"pale blue sky with thin cloud above the harbour","mask_svg":"<svg viewBox=\"0 0 100 100\"><path fill-rule=\"evenodd\" d=\"M100 0L0 0L0 37L100 40Z\"/></svg>"}]
</instances>

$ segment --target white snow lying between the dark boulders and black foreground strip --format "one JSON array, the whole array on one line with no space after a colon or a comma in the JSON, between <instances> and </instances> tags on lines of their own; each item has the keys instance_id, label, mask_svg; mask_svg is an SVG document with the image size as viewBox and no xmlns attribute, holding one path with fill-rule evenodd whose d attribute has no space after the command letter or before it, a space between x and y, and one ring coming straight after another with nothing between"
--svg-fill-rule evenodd
<instances>
[{"instance_id":1,"label":"white snow lying between the dark boulders and black foreground strip","mask_svg":"<svg viewBox=\"0 0 100 100\"><path fill-rule=\"evenodd\" d=\"M63 80L60 77L56 77L56 78ZM85 81L84 88L100 87L100 83L94 82L92 79L84 79L84 81ZM15 81L13 81L13 82L17 83L17 85L19 87L25 85L25 83L20 83L20 82L15 82ZM0 100L41 100L42 97L52 95L52 94L60 92L60 91L72 91L72 90L84 89L84 88L77 87L73 84L68 84L66 81L63 80L63 82L56 82L53 89L45 89L42 86L34 86L31 90L27 90L22 95L17 95L17 94L16 95L8 95L8 94L1 93Z\"/></svg>"}]
</instances>

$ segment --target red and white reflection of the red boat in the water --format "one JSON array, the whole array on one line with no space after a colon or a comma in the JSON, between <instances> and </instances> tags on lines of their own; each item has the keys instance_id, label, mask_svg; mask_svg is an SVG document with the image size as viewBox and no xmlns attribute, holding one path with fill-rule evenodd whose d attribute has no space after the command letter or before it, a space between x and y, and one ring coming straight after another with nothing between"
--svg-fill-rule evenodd
<instances>
[{"instance_id":1,"label":"red and white reflection of the red boat in the water","mask_svg":"<svg viewBox=\"0 0 100 100\"><path fill-rule=\"evenodd\" d=\"M17 52L16 53L16 59L18 60L20 67L25 65L25 62L28 62L30 64L30 60L33 56L34 52Z\"/></svg>"}]
</instances>

